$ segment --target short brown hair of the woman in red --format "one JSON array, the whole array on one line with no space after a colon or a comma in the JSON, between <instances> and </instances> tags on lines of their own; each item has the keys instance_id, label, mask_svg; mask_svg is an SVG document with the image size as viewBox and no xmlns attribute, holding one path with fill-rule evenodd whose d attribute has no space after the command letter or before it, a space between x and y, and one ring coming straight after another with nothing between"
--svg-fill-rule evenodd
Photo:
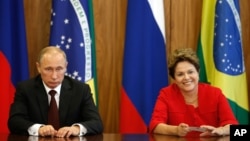
<instances>
[{"instance_id":1,"label":"short brown hair of the woman in red","mask_svg":"<svg viewBox=\"0 0 250 141\"><path fill-rule=\"evenodd\" d=\"M168 62L169 75L174 79L175 68L179 62L189 62L194 65L196 70L200 71L199 59L192 48L178 48L170 54Z\"/></svg>"}]
</instances>

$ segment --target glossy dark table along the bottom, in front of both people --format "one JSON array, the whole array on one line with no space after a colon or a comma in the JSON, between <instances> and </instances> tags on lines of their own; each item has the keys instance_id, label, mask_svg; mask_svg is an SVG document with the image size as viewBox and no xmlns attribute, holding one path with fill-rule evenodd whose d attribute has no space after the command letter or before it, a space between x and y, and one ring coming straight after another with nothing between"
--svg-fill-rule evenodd
<instances>
[{"instance_id":1,"label":"glossy dark table along the bottom, in front of both people","mask_svg":"<svg viewBox=\"0 0 250 141\"><path fill-rule=\"evenodd\" d=\"M100 134L84 137L51 138L0 133L0 141L230 141L224 137L176 137L158 134Z\"/></svg>"}]
</instances>

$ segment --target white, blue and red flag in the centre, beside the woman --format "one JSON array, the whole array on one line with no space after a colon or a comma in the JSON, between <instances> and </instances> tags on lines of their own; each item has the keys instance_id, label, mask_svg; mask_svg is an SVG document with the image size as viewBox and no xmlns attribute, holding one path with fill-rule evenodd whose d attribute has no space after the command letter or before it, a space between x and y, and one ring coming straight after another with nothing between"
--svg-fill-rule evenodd
<instances>
[{"instance_id":1,"label":"white, blue and red flag in the centre, beside the woman","mask_svg":"<svg viewBox=\"0 0 250 141\"><path fill-rule=\"evenodd\" d=\"M128 0L125 38L120 132L146 133L168 85L163 0Z\"/></svg>"}]
</instances>

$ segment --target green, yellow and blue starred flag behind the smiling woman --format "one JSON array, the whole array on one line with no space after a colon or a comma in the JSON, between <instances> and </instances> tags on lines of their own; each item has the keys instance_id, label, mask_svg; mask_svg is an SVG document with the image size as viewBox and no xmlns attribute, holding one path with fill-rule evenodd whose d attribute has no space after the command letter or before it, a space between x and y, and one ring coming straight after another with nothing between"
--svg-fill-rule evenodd
<instances>
[{"instance_id":1,"label":"green, yellow and blue starred flag behind the smiling woman","mask_svg":"<svg viewBox=\"0 0 250 141\"><path fill-rule=\"evenodd\" d=\"M238 0L203 1L198 56L201 81L222 89L240 124L249 123L248 90ZM204 61L204 62L202 62ZM204 75L206 74L206 78Z\"/></svg>"}]
</instances>

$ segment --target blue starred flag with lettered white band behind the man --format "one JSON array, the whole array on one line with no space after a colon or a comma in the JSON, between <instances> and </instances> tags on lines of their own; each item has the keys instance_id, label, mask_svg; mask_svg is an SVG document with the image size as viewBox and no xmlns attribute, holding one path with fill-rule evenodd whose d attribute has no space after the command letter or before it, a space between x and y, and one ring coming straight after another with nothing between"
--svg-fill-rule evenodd
<instances>
[{"instance_id":1,"label":"blue starred flag with lettered white band behind the man","mask_svg":"<svg viewBox=\"0 0 250 141\"><path fill-rule=\"evenodd\" d=\"M89 84L98 105L92 0L53 0L51 14L50 45L65 51L65 75Z\"/></svg>"}]
</instances>

